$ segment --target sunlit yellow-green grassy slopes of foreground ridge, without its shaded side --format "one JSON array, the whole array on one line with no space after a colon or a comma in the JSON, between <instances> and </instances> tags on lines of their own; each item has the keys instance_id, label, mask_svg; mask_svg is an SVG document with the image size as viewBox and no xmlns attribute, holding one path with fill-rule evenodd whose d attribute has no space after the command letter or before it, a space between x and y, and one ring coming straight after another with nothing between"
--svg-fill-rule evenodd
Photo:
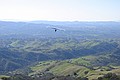
<instances>
[{"instance_id":1,"label":"sunlit yellow-green grassy slopes of foreground ridge, without its shaded side","mask_svg":"<svg viewBox=\"0 0 120 80\"><path fill-rule=\"evenodd\" d=\"M94 60L94 56L87 56L83 58L77 58L77 59L71 59L65 61L46 61L46 62L40 62L39 64L31 67L31 69L34 71L33 72L34 74L43 71L44 72L48 71L55 75L66 75L66 76L77 73L78 76L88 77L90 80L97 79L98 77L103 76L104 74L107 74L109 72L120 75L119 66L101 66L101 67L98 66L98 67L93 67L93 69L90 69L89 67L87 67L90 65L90 60L86 61L85 58ZM49 70L46 71L46 69Z\"/></svg>"}]
</instances>

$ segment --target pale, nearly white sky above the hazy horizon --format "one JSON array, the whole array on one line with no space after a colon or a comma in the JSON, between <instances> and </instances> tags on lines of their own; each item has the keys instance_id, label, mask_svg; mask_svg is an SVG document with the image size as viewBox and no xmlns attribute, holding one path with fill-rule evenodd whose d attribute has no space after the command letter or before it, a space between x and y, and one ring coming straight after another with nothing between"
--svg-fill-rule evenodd
<instances>
[{"instance_id":1,"label":"pale, nearly white sky above the hazy horizon","mask_svg":"<svg viewBox=\"0 0 120 80\"><path fill-rule=\"evenodd\" d=\"M0 0L0 20L120 21L120 0Z\"/></svg>"}]
</instances>

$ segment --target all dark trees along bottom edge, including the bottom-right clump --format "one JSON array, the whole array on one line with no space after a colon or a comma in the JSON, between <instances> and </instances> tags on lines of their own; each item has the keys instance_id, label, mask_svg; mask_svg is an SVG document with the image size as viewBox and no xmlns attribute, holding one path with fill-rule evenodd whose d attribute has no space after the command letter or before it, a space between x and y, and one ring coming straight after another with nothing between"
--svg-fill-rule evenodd
<instances>
[{"instance_id":1,"label":"all dark trees along bottom edge, including the bottom-right clump","mask_svg":"<svg viewBox=\"0 0 120 80\"><path fill-rule=\"evenodd\" d=\"M1 80L89 80L86 77L75 77L75 76L55 76L52 73L40 73L35 75L23 75L15 74L10 77L2 77ZM103 77L98 77L96 80L120 80L120 77L115 73L107 73Z\"/></svg>"}]
</instances>

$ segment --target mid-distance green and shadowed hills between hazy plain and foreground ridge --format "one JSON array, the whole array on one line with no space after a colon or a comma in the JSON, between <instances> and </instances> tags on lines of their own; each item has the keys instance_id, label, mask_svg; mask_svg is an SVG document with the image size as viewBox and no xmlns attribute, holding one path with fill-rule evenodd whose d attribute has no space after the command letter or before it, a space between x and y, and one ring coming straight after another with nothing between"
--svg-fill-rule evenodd
<instances>
[{"instance_id":1,"label":"mid-distance green and shadowed hills between hazy plain and foreground ridge","mask_svg":"<svg viewBox=\"0 0 120 80\"><path fill-rule=\"evenodd\" d=\"M119 41L74 38L0 40L0 65L2 65L0 73L23 68L39 61L78 57L80 58L71 63L80 63L82 66L89 67L119 65Z\"/></svg>"}]
</instances>

